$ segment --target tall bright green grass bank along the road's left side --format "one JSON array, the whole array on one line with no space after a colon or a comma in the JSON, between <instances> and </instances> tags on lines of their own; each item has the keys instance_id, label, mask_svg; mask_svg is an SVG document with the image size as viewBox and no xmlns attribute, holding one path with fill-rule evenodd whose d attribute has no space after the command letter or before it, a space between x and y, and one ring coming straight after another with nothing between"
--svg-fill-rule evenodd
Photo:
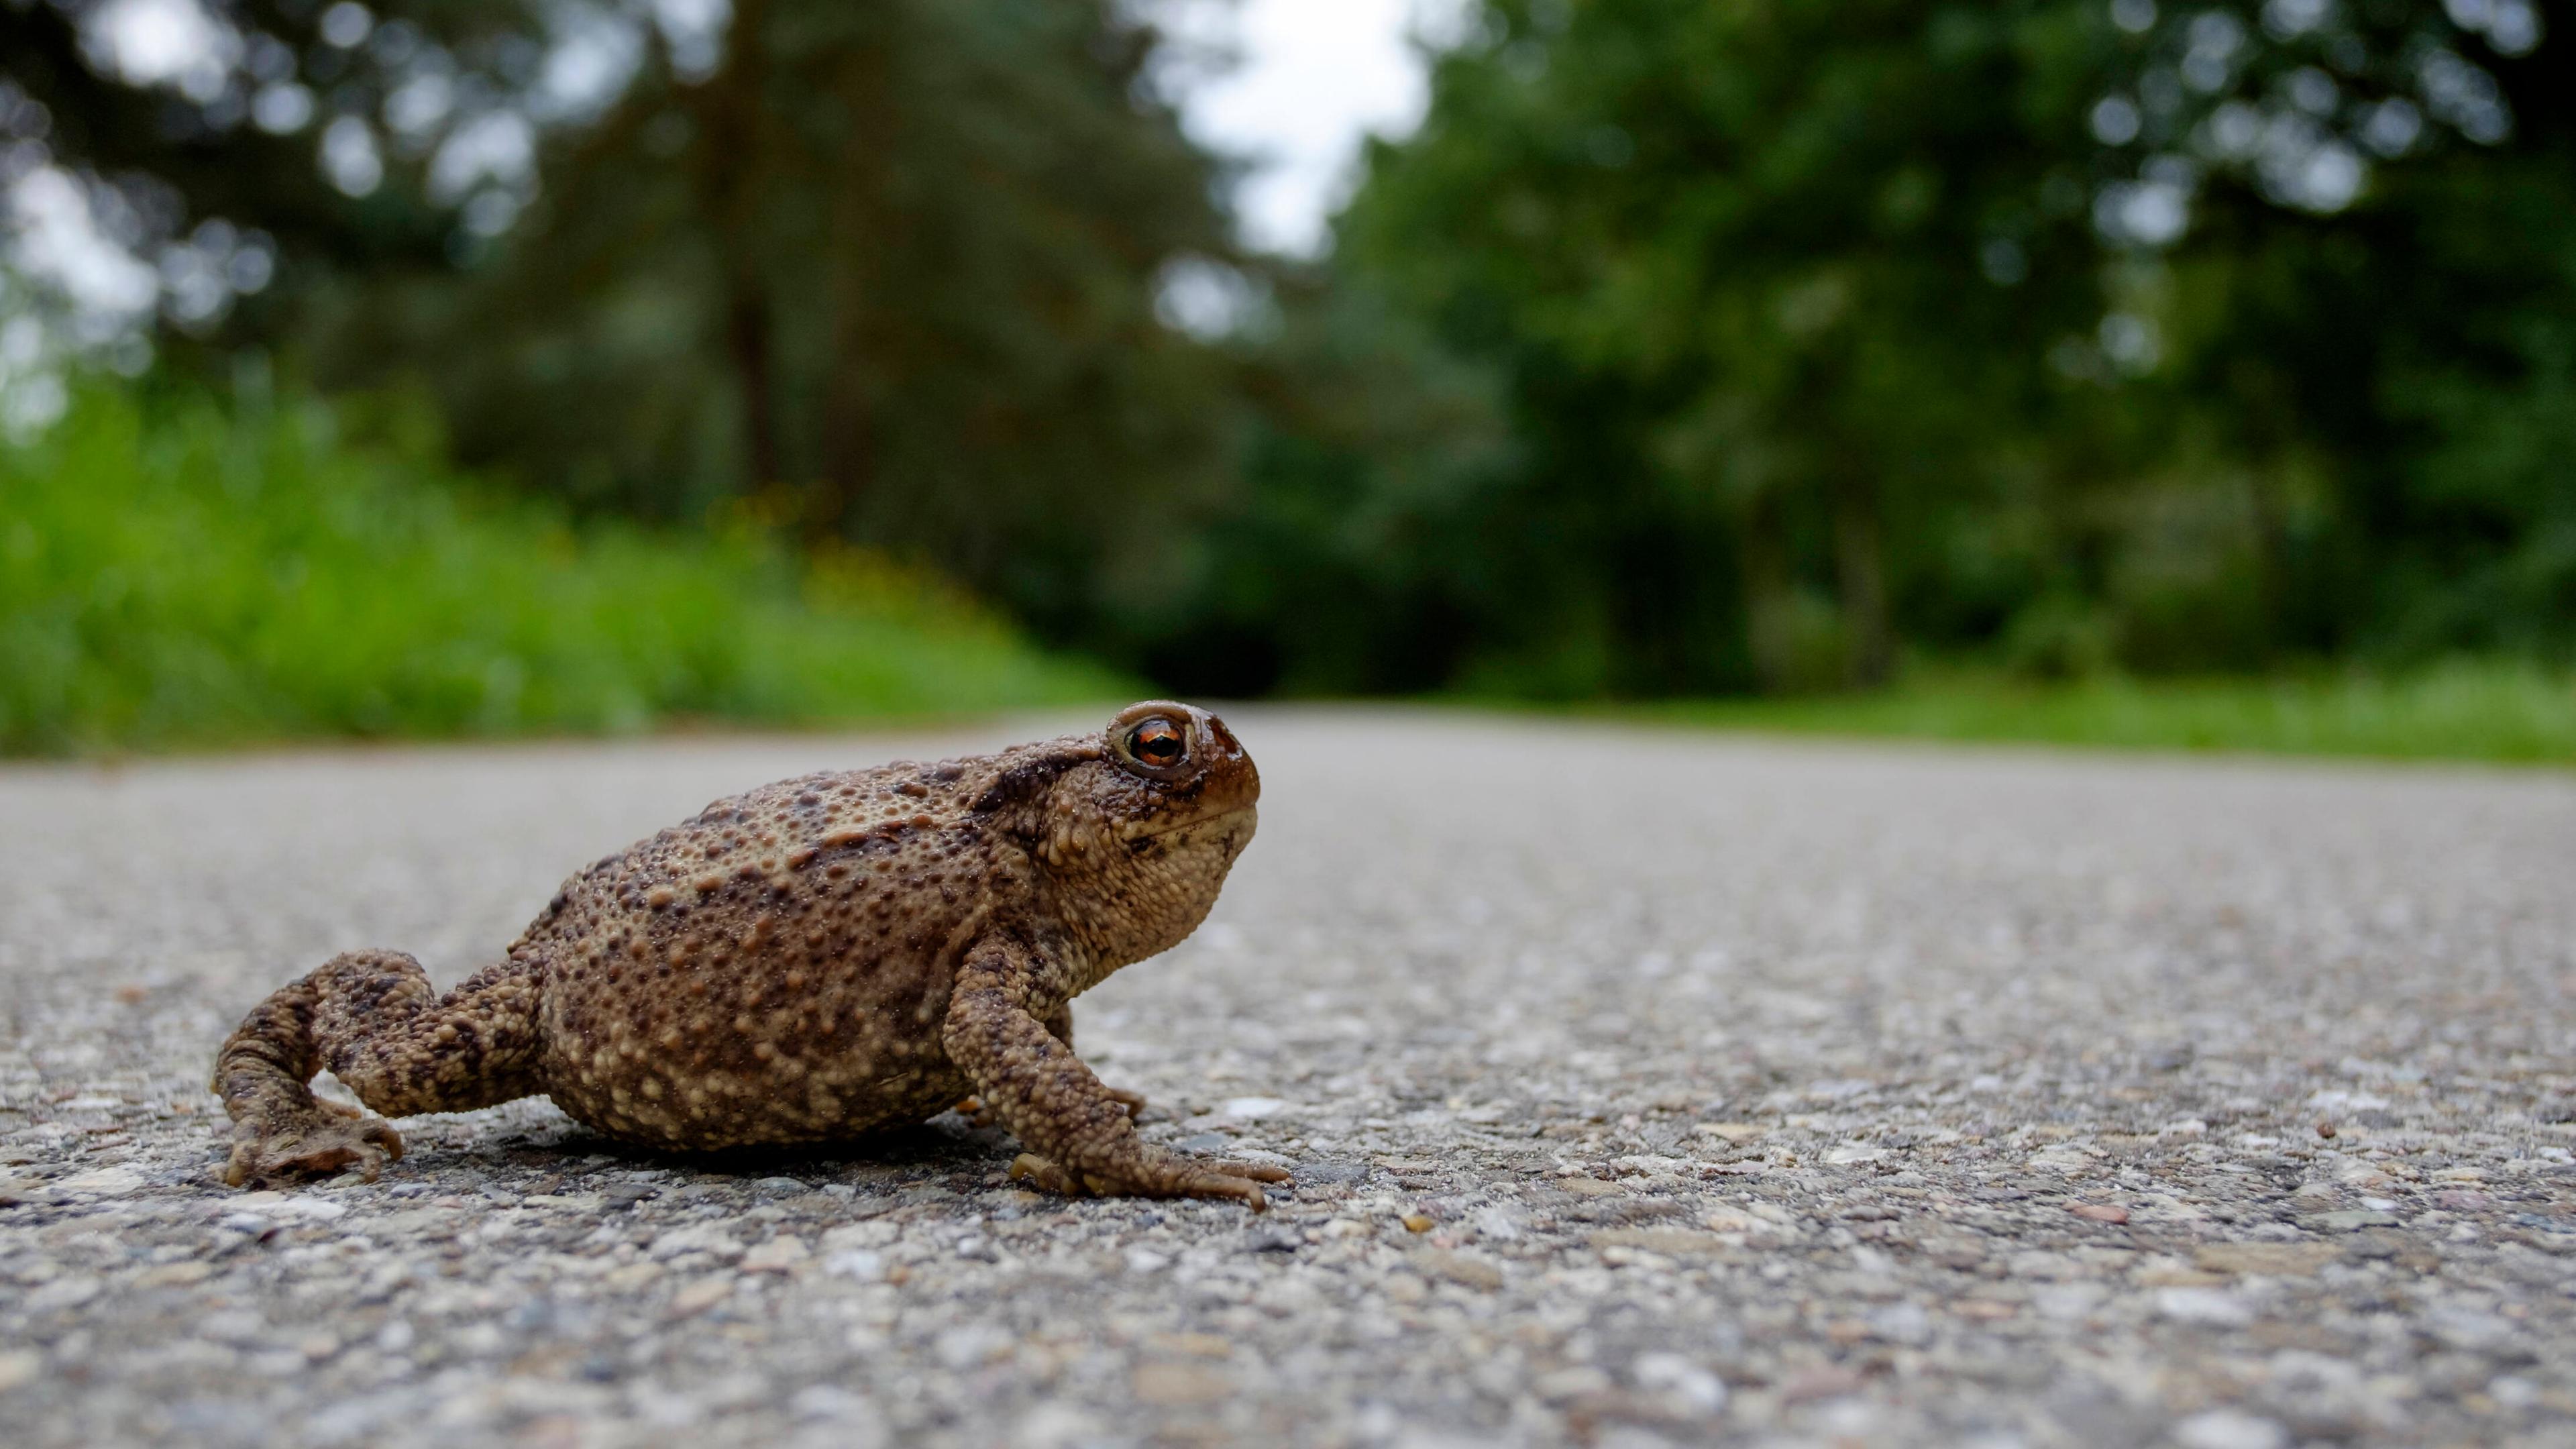
<instances>
[{"instance_id":1,"label":"tall bright green grass bank along the road's left side","mask_svg":"<svg viewBox=\"0 0 2576 1449\"><path fill-rule=\"evenodd\" d=\"M0 753L840 724L1126 694L868 554L572 529L317 402L93 387L0 443Z\"/></svg>"}]
</instances>

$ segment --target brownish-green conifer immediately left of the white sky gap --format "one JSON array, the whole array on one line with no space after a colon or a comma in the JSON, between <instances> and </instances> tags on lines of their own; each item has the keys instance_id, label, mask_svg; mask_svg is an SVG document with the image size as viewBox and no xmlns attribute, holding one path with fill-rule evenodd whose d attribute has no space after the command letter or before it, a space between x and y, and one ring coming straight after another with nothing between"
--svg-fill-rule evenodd
<instances>
[{"instance_id":1,"label":"brownish-green conifer immediately left of the white sky gap","mask_svg":"<svg viewBox=\"0 0 2576 1449\"><path fill-rule=\"evenodd\" d=\"M1072 637L1221 464L1226 379L1154 302L1229 242L1151 57L1108 0L737 0L711 72L649 46L546 137L505 237L337 278L283 340L417 379L526 487L757 495Z\"/></svg>"}]
</instances>

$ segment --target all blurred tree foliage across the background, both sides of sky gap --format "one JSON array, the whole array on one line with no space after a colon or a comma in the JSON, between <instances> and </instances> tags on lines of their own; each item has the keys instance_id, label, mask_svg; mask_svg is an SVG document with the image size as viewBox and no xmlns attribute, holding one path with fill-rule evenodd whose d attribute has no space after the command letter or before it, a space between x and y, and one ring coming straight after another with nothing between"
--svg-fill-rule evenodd
<instances>
[{"instance_id":1,"label":"all blurred tree foliage across the background, both sides of sky gap","mask_svg":"<svg viewBox=\"0 0 2576 1449\"><path fill-rule=\"evenodd\" d=\"M2576 0L1463 10L1311 266L1231 255L1121 0L229 0L152 93L0 5L0 131L273 237L222 327L173 284L180 366L417 384L580 516L925 559L1182 691L2576 657ZM562 26L631 72L549 90ZM1190 268L1273 307L1164 325Z\"/></svg>"}]
</instances>

